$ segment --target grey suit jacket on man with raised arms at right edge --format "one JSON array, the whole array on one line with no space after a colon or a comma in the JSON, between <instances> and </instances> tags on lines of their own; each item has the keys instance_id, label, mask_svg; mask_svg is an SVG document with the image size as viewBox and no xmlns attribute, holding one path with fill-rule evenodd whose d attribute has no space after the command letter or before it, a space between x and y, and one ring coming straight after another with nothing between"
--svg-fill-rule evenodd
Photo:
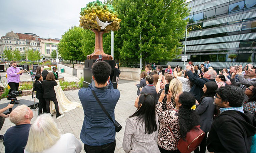
<instances>
[{"instance_id":1,"label":"grey suit jacket on man with raised arms at right edge","mask_svg":"<svg viewBox=\"0 0 256 153\"><path fill-rule=\"evenodd\" d=\"M239 82L236 82L235 78L231 78L230 81L232 85L241 87L243 91L245 91L245 89L251 85L254 85L254 86L256 85L256 79L249 81L249 79L244 78L243 75L239 75L238 78L240 80Z\"/></svg>"}]
</instances>

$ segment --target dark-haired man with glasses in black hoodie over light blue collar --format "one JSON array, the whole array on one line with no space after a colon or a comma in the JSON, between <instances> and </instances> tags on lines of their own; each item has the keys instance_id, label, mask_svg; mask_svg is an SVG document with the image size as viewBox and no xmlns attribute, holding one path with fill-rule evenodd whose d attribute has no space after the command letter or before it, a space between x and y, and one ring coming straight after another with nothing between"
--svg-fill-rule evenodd
<instances>
[{"instance_id":1,"label":"dark-haired man with glasses in black hoodie over light blue collar","mask_svg":"<svg viewBox=\"0 0 256 153\"><path fill-rule=\"evenodd\" d=\"M216 90L214 104L220 107L220 114L208 135L209 152L250 152L256 119L244 110L243 100L244 92L239 87L227 85Z\"/></svg>"}]
</instances>

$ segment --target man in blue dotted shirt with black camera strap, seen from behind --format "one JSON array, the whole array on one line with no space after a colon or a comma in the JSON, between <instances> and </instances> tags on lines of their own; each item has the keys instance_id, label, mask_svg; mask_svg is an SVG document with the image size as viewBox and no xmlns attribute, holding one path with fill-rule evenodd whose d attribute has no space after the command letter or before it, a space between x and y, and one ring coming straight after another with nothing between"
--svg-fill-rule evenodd
<instances>
[{"instance_id":1,"label":"man in blue dotted shirt with black camera strap, seen from behind","mask_svg":"<svg viewBox=\"0 0 256 153\"><path fill-rule=\"evenodd\" d=\"M120 92L113 88L113 84L109 80L110 73L111 67L105 61L94 63L92 83L88 88L81 88L78 92L84 111L80 138L84 143L86 153L114 153L115 150L115 126L92 94L93 90L114 121L114 108L120 97Z\"/></svg>"}]
</instances>

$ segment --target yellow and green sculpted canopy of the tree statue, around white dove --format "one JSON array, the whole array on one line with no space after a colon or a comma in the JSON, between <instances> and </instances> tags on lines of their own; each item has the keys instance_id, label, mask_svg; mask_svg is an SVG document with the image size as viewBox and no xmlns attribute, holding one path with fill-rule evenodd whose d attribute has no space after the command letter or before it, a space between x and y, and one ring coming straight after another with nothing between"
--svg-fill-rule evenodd
<instances>
[{"instance_id":1,"label":"yellow and green sculpted canopy of the tree statue, around white dove","mask_svg":"<svg viewBox=\"0 0 256 153\"><path fill-rule=\"evenodd\" d=\"M97 29L101 31L100 26L97 24L96 16L98 16L99 20L102 22L112 22L108 25L104 31L116 31L120 29L119 23L121 19L117 18L117 13L114 11L112 5L103 4L101 1L93 1L86 5L86 7L81 8L80 12L80 27L84 29Z\"/></svg>"}]
</instances>

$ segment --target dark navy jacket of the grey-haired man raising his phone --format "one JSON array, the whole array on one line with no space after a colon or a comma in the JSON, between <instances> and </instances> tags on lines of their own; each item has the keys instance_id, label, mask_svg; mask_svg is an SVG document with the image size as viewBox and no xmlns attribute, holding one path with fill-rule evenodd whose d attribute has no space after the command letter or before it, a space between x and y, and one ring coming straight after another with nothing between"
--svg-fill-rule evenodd
<instances>
[{"instance_id":1,"label":"dark navy jacket of the grey-haired man raising his phone","mask_svg":"<svg viewBox=\"0 0 256 153\"><path fill-rule=\"evenodd\" d=\"M190 81L194 82L194 85L190 89L190 93L192 93L197 101L200 101L200 98L203 96L203 87L206 82L215 81L214 79L200 78L196 73L192 73L191 71L187 72Z\"/></svg>"}]
</instances>

